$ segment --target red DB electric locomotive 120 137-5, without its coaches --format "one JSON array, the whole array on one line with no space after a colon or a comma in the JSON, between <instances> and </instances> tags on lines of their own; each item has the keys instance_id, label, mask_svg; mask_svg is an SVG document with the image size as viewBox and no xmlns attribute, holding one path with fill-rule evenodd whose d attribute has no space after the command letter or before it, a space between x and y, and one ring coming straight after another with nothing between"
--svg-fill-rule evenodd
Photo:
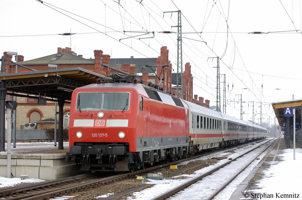
<instances>
[{"instance_id":1,"label":"red DB electric locomotive 120 137-5, without its coaches","mask_svg":"<svg viewBox=\"0 0 302 200\"><path fill-rule=\"evenodd\" d=\"M72 93L66 158L80 170L132 171L189 153L188 106L113 74Z\"/></svg>"}]
</instances>

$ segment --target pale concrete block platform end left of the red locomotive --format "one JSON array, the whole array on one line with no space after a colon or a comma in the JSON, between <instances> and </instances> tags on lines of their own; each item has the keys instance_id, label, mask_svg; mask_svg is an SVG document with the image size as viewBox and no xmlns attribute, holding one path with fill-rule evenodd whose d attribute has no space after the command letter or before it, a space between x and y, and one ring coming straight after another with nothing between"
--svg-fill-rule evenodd
<instances>
[{"instance_id":1,"label":"pale concrete block platform end left of the red locomotive","mask_svg":"<svg viewBox=\"0 0 302 200\"><path fill-rule=\"evenodd\" d=\"M50 142L16 143L11 148L11 173L14 177L27 174L28 178L54 180L79 174L79 165L65 162L69 151L68 142L64 149ZM7 150L0 152L0 176L7 176Z\"/></svg>"}]
</instances>

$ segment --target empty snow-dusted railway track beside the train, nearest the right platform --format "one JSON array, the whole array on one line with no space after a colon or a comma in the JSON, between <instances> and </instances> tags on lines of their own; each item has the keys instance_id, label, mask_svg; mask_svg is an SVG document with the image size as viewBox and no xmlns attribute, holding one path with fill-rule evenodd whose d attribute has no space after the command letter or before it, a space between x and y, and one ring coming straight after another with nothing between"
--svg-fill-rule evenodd
<instances>
[{"instance_id":1,"label":"empty snow-dusted railway track beside the train, nearest the right platform","mask_svg":"<svg viewBox=\"0 0 302 200\"><path fill-rule=\"evenodd\" d=\"M267 141L265 144L268 144L268 146L266 148L264 148L263 150L261 150L261 152L257 153L252 159L250 159L250 161L244 166L242 167L241 170L239 170L237 173L233 174L229 180L227 180L226 182L223 182L224 184L221 184L219 186L219 188L215 189L215 192L213 192L212 194L209 194L207 197L201 197L199 196L195 196L195 198L197 197L198 199L213 199L219 192L221 192L229 183L231 183L231 181L233 181L244 169L246 169L246 167L248 167L252 161L254 161L257 157L259 157L259 155L261 155L265 150L267 150L268 147L270 147L273 143L275 142L275 140L269 140ZM263 144L264 145L264 144ZM262 146L262 145L260 145ZM259 148L260 146L256 147ZM212 170L209 170L201 175L199 175L198 177L195 177L194 179L189 180L186 183L183 183L182 185L179 185L177 187L175 187L174 189L169 190L168 192L165 192L161 195L158 195L155 198L152 198L152 200L160 200L160 199L168 199L168 198L172 198L174 197L174 199L184 199L184 197L186 199L194 199L194 197L190 198L189 194L190 192L183 192L183 196L182 194L178 194L178 192L180 191L184 191L186 188L188 188L189 186L192 186L193 184L196 183L196 185L192 186L192 188L194 188L196 190L196 188L198 188L197 182L204 179L205 177L209 177L211 174L213 174L214 172L217 172L218 170L222 169L223 167L226 167L228 164L236 161L237 159L243 157L244 155L251 153L252 151L254 151L256 148L251 149L248 152L243 153L242 155L237 156L236 158L233 158L230 161L227 161L221 165L219 165L218 167L215 167ZM210 178L208 178L208 180L211 180ZM199 193L200 194L200 193Z\"/></svg>"}]
</instances>

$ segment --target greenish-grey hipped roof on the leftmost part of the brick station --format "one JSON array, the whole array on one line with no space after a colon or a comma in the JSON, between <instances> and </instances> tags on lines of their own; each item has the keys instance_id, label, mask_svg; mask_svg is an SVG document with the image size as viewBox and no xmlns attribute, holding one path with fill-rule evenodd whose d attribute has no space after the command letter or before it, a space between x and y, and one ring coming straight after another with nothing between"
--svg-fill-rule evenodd
<instances>
[{"instance_id":1,"label":"greenish-grey hipped roof on the leftmost part of the brick station","mask_svg":"<svg viewBox=\"0 0 302 200\"><path fill-rule=\"evenodd\" d=\"M77 56L75 53L62 52L61 54L47 55L29 61L18 62L22 65L41 65L41 64L94 64L94 61Z\"/></svg>"}]
</instances>

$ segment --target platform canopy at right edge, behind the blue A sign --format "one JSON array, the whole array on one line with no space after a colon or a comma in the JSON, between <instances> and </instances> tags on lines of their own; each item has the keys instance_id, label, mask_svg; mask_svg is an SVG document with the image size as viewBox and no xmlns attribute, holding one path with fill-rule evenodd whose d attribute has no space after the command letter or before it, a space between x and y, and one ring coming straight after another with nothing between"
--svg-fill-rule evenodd
<instances>
[{"instance_id":1,"label":"platform canopy at right edge, behind the blue A sign","mask_svg":"<svg viewBox=\"0 0 302 200\"><path fill-rule=\"evenodd\" d=\"M273 102L271 105L274 108L275 115L278 119L278 123L280 126L285 121L284 118L284 108L287 107L295 107L299 109L299 111L296 111L296 118L301 119L301 108L302 108L302 99L296 99L296 100L289 100L289 101L283 101L283 102ZM300 120L296 120L296 122L299 122Z\"/></svg>"}]
</instances>

